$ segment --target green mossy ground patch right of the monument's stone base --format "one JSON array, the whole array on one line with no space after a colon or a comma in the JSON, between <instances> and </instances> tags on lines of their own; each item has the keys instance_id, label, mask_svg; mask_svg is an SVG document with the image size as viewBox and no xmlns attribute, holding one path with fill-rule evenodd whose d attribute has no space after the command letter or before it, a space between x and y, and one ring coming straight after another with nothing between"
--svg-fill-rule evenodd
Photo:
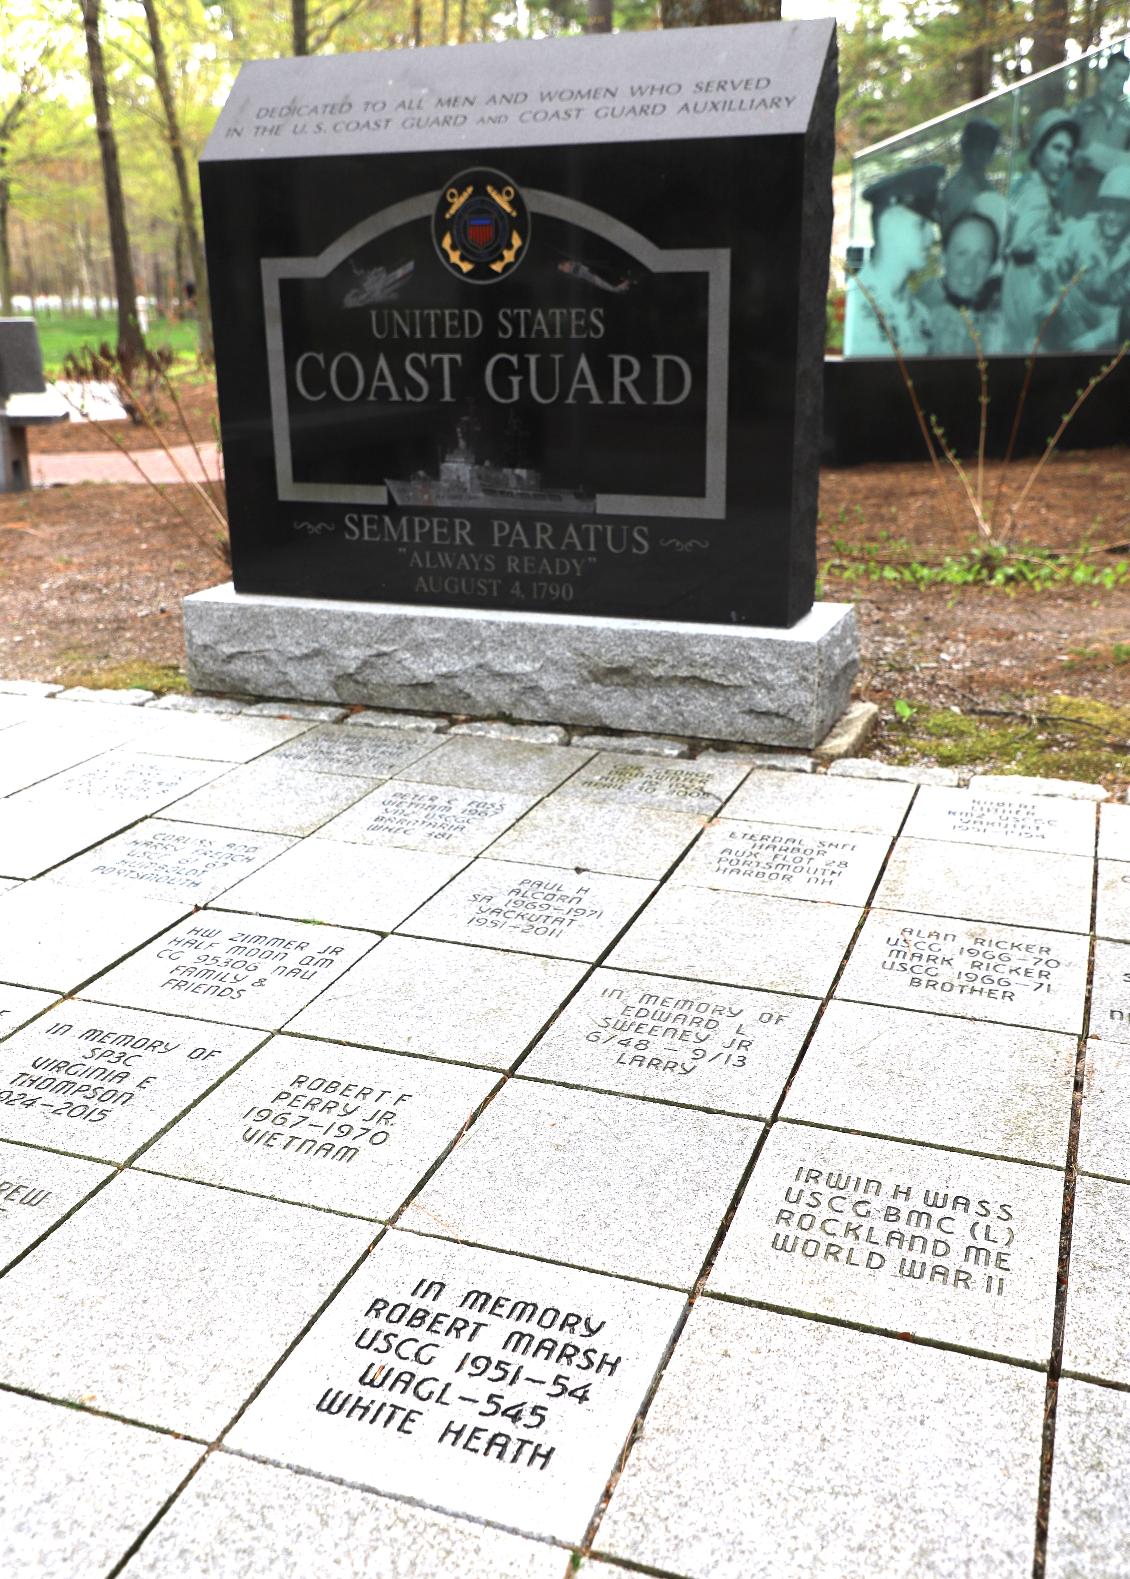
<instances>
[{"instance_id":1,"label":"green mossy ground patch right of the monument's stone base","mask_svg":"<svg viewBox=\"0 0 1130 1579\"><path fill-rule=\"evenodd\" d=\"M1032 715L983 717L909 707L882 731L890 761L1121 785L1130 778L1130 706L1086 696L1034 698Z\"/></svg>"}]
</instances>

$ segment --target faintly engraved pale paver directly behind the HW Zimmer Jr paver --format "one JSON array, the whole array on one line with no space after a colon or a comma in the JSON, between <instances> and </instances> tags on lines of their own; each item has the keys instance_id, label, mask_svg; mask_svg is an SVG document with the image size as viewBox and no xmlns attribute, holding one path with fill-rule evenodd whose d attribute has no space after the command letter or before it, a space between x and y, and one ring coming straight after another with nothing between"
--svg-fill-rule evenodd
<instances>
[{"instance_id":1,"label":"faintly engraved pale paver directly behind the HW Zimmer Jr paver","mask_svg":"<svg viewBox=\"0 0 1130 1579\"><path fill-rule=\"evenodd\" d=\"M292 843L279 834L148 818L55 867L44 881L207 905Z\"/></svg>"}]
</instances>

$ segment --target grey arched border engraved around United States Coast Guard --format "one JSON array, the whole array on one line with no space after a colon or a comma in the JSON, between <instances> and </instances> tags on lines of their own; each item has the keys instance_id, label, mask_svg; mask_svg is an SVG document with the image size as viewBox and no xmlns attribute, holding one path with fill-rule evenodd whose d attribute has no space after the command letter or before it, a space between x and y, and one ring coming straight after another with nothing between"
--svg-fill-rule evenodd
<instances>
[{"instance_id":1,"label":"grey arched border engraved around United States Coast Guard","mask_svg":"<svg viewBox=\"0 0 1130 1579\"><path fill-rule=\"evenodd\" d=\"M522 188L530 213L563 219L595 235L603 235L628 253L652 273L705 273L707 295L707 411L705 411L705 489L701 497L669 494L597 494L597 510L604 513L641 513L655 516L693 515L721 521L726 515L726 392L729 381L729 248L655 246L639 231L614 219L600 208ZM384 483L300 483L294 477L290 453L290 422L287 411L286 358L282 354L282 279L320 279L344 262L366 242L415 219L431 219L434 193L409 197L361 219L317 257L264 257L264 311L267 322L267 376L271 399L271 433L275 437L275 477L279 499L320 504L388 504Z\"/></svg>"}]
</instances>

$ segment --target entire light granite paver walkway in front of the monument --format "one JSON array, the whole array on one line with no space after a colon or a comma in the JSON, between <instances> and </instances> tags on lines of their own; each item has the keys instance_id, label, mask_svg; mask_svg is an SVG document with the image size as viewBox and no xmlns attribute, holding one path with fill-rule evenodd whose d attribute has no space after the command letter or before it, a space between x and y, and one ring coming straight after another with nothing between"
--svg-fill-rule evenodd
<instances>
[{"instance_id":1,"label":"entire light granite paver walkway in front of the monument","mask_svg":"<svg viewBox=\"0 0 1130 1579\"><path fill-rule=\"evenodd\" d=\"M1130 1573L1130 807L35 698L0 796L6 1576Z\"/></svg>"}]
</instances>

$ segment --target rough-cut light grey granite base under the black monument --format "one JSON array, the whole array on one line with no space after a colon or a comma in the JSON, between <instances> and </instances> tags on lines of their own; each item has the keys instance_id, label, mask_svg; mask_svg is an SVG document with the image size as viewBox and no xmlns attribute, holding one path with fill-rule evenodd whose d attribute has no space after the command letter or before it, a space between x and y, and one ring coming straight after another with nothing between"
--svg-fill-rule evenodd
<instances>
[{"instance_id":1,"label":"rough-cut light grey granite base under the black monument","mask_svg":"<svg viewBox=\"0 0 1130 1579\"><path fill-rule=\"evenodd\" d=\"M816 603L789 630L344 603L185 598L199 690L816 745L848 706L855 611Z\"/></svg>"}]
</instances>

